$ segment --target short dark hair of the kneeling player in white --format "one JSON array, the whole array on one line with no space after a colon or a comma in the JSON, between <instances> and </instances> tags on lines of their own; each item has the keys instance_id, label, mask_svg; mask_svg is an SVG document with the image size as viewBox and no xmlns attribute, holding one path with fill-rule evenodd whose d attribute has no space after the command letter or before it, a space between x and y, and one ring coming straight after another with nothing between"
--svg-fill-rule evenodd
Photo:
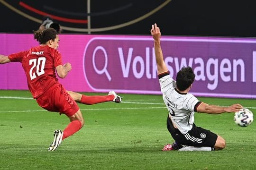
<instances>
[{"instance_id":1,"label":"short dark hair of the kneeling player in white","mask_svg":"<svg viewBox=\"0 0 256 170\"><path fill-rule=\"evenodd\" d=\"M195 74L191 67L183 67L176 76L176 85L180 91L186 90L194 82Z\"/></svg>"}]
</instances>

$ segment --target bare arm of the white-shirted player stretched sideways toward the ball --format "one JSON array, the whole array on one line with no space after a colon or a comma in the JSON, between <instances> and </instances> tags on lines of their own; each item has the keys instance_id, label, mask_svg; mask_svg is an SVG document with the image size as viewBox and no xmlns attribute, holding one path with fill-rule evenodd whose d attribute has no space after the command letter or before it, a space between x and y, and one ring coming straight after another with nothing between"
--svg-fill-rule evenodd
<instances>
[{"instance_id":1,"label":"bare arm of the white-shirted player stretched sideways toward the ball","mask_svg":"<svg viewBox=\"0 0 256 170\"><path fill-rule=\"evenodd\" d=\"M201 113L209 113L209 114L220 114L224 112L238 112L243 108L241 104L233 104L231 106L217 106L217 105L209 105L207 103L202 102L198 108L197 112Z\"/></svg>"}]
</instances>

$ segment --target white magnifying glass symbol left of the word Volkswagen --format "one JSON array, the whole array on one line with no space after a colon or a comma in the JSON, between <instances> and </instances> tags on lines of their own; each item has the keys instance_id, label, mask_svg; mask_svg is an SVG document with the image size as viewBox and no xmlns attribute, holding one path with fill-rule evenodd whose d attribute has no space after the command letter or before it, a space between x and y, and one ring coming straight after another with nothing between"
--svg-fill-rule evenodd
<instances>
[{"instance_id":1,"label":"white magnifying glass symbol left of the word Volkswagen","mask_svg":"<svg viewBox=\"0 0 256 170\"><path fill-rule=\"evenodd\" d=\"M103 53L104 53L104 57L105 57L105 65L104 67L100 70L96 67L96 64L95 64L95 54L98 50L101 50ZM106 74L107 78L109 79L109 81L111 80L111 76L107 70L107 66L108 66L108 55L107 55L107 52L106 50L102 47L102 46L98 46L95 48L95 50L93 51L93 54L92 54L92 65L93 65L93 68L94 70L96 71L96 73L98 73L99 75L102 75L103 73Z\"/></svg>"}]
</instances>

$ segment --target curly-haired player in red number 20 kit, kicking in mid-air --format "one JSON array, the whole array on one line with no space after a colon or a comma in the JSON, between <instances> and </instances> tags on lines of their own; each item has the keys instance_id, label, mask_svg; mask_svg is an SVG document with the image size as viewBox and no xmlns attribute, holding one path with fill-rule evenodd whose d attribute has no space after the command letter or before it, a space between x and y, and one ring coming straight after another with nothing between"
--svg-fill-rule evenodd
<instances>
[{"instance_id":1,"label":"curly-haired player in red number 20 kit, kicking in mid-air","mask_svg":"<svg viewBox=\"0 0 256 170\"><path fill-rule=\"evenodd\" d=\"M58 82L56 73L60 78L64 78L72 66L70 63L63 65L61 54L56 50L59 47L60 39L55 29L48 28L44 31L35 31L34 38L40 43L39 46L9 56L0 55L0 64L21 62L27 76L28 89L33 98L37 100L38 105L48 111L64 113L70 119L71 122L63 131L55 130L54 141L48 148L49 151L54 151L62 140L83 127L82 112L75 102L75 100L81 102L82 95L69 92L72 93L74 99ZM121 97L113 91L108 96L107 100L121 102Z\"/></svg>"}]
</instances>

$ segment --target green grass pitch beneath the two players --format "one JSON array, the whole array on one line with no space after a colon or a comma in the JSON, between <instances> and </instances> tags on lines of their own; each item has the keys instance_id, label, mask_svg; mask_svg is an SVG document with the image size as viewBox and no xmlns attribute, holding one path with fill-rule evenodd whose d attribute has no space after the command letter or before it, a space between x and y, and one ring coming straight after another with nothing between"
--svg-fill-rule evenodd
<instances>
[{"instance_id":1,"label":"green grass pitch beneath the two players","mask_svg":"<svg viewBox=\"0 0 256 170\"><path fill-rule=\"evenodd\" d=\"M97 95L102 93L86 93ZM122 94L123 102L79 104L85 126L47 151L65 115L41 109L28 91L0 91L0 170L252 170L256 167L256 123L238 127L233 113L195 114L197 126L226 139L214 152L163 152L173 139L166 128L167 110L160 95ZM256 101L199 98L230 105L241 103L256 113Z\"/></svg>"}]
</instances>

